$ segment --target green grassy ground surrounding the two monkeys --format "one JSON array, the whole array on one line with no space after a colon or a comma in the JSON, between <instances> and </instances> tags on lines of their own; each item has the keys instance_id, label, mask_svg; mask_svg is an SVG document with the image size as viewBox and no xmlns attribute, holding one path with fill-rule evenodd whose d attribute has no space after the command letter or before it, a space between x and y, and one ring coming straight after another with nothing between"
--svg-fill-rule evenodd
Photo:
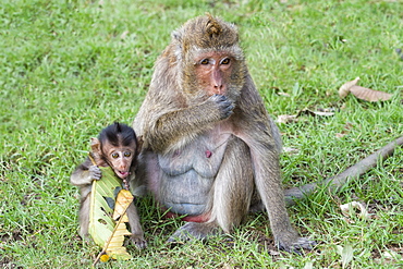
<instances>
[{"instance_id":1,"label":"green grassy ground surrounding the two monkeys","mask_svg":"<svg viewBox=\"0 0 403 269\"><path fill-rule=\"evenodd\" d=\"M379 0L80 1L2 0L0 5L0 267L88 268L98 248L77 235L73 168L88 139L115 120L131 123L170 32L205 12L239 25L251 73L280 124L285 186L334 175L403 133L403 4ZM369 103L337 89L361 85L393 94ZM319 242L303 256L278 253L265 215L227 237L164 244L181 225L139 201L149 247L103 268L403 267L402 148L337 193L289 209ZM361 201L371 218L344 217ZM342 255L341 255L342 254Z\"/></svg>"}]
</instances>

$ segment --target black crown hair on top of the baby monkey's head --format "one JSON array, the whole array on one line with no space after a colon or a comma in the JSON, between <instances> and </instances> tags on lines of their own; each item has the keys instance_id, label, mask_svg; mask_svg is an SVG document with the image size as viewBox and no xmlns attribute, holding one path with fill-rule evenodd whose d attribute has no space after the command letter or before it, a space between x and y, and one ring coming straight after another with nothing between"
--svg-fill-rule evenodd
<instances>
[{"instance_id":1,"label":"black crown hair on top of the baby monkey's head","mask_svg":"<svg viewBox=\"0 0 403 269\"><path fill-rule=\"evenodd\" d=\"M130 146L133 142L137 144L136 134L134 130L126 124L114 122L113 124L103 129L98 139L103 144L106 140L111 145L118 146Z\"/></svg>"}]
</instances>

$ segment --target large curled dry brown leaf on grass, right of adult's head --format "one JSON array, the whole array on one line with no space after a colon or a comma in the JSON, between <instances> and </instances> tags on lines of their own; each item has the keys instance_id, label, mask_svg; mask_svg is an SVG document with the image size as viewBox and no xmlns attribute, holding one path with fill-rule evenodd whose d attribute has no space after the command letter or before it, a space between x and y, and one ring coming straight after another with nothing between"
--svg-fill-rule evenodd
<instances>
[{"instance_id":1,"label":"large curled dry brown leaf on grass, right of adult's head","mask_svg":"<svg viewBox=\"0 0 403 269\"><path fill-rule=\"evenodd\" d=\"M359 77L344 83L339 89L339 96L344 98L352 93L355 97L365 101L387 101L392 98L391 94L358 86Z\"/></svg>"}]
</instances>

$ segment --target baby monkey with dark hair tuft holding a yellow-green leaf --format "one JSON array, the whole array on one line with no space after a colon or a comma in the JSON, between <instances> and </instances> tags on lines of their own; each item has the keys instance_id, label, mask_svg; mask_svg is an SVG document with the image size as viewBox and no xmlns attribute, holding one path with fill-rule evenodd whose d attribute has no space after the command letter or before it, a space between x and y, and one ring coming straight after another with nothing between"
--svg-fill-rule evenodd
<instances>
[{"instance_id":1,"label":"baby monkey with dark hair tuft holding a yellow-green leaf","mask_svg":"<svg viewBox=\"0 0 403 269\"><path fill-rule=\"evenodd\" d=\"M111 167L115 175L127 185L130 178L134 176L141 144L132 127L118 122L103 129L98 138L91 138L90 155L95 164L88 157L75 169L70 179L71 183L78 186L81 192L78 217L80 235L83 239L88 236L91 184L94 180L102 178L101 170L98 167ZM133 203L129 206L126 213L132 242L138 248L146 247L147 243L144 240L139 216Z\"/></svg>"}]
</instances>

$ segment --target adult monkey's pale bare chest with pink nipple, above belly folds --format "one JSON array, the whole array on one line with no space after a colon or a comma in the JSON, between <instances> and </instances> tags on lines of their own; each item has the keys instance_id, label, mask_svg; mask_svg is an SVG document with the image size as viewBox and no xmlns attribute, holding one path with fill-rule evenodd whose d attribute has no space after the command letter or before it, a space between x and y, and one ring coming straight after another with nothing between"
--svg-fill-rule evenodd
<instances>
[{"instance_id":1,"label":"adult monkey's pale bare chest with pink nipple, above belly folds","mask_svg":"<svg viewBox=\"0 0 403 269\"><path fill-rule=\"evenodd\" d=\"M175 178L191 172L212 179L222 163L230 136L215 132L202 135L179 150L158 156L159 166L168 176Z\"/></svg>"}]
</instances>

